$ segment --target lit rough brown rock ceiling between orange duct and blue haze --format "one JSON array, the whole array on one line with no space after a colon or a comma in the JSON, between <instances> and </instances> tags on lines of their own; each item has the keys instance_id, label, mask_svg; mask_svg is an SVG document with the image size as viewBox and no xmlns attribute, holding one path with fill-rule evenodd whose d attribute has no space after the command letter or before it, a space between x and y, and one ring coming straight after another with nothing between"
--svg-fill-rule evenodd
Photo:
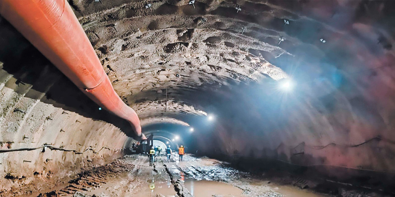
<instances>
[{"instance_id":1,"label":"lit rough brown rock ceiling between orange duct and blue haze","mask_svg":"<svg viewBox=\"0 0 395 197\"><path fill-rule=\"evenodd\" d=\"M150 11L143 2L73 1L115 90L141 119L163 116L166 108L165 116L203 115L193 95L286 77L264 57L292 56L265 41L277 39L278 33L245 21L261 11L240 13L239 19L228 16L230 8L234 14L231 2L196 2L196 9L187 3L151 2ZM247 30L241 34L243 26ZM254 33L258 37L250 36Z\"/></svg>"}]
</instances>

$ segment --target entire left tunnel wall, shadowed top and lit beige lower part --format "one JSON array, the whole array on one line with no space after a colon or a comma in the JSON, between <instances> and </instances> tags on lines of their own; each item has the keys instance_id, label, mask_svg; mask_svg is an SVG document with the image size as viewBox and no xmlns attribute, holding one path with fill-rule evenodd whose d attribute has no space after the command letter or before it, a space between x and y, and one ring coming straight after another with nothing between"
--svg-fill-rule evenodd
<instances>
[{"instance_id":1,"label":"entire left tunnel wall, shadowed top and lit beige lower part","mask_svg":"<svg viewBox=\"0 0 395 197\"><path fill-rule=\"evenodd\" d=\"M123 155L128 123L99 110L5 20L0 35L0 196L53 188Z\"/></svg>"}]
</instances>

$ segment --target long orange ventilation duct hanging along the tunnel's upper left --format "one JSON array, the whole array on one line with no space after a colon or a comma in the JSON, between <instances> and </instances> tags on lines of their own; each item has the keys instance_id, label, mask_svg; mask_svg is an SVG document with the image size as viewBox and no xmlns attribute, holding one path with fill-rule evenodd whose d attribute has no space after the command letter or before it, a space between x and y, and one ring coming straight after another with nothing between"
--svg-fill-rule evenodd
<instances>
[{"instance_id":1,"label":"long orange ventilation duct hanging along the tunnel's upper left","mask_svg":"<svg viewBox=\"0 0 395 197\"><path fill-rule=\"evenodd\" d=\"M0 14L90 99L126 119L146 139L137 113L114 91L66 0L0 0Z\"/></svg>"}]
</instances>

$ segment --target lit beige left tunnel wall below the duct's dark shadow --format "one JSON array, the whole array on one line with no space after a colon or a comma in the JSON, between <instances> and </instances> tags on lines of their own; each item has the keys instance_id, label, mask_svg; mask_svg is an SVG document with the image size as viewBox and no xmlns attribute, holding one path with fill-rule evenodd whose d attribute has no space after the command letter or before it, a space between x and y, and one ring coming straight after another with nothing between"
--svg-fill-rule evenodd
<instances>
[{"instance_id":1,"label":"lit beige left tunnel wall below the duct's dark shadow","mask_svg":"<svg viewBox=\"0 0 395 197\"><path fill-rule=\"evenodd\" d=\"M37 81L30 85L5 71L2 62L0 68L1 150L34 148L45 144L63 149L0 152L0 166L3 169L0 171L0 195L45 191L58 184L61 178L71 178L83 169L103 165L122 156L127 136L120 128L81 115L83 113L77 113L78 110L57 103L48 92L34 88L45 84L47 91L51 92L54 81L66 81L62 79L62 74L41 70L41 80L36 76ZM17 75L23 76L27 72L31 70L24 69ZM57 80L50 82L44 76ZM66 81L66 84L69 83ZM55 85L57 88L59 85ZM67 94L77 97L79 92L75 89L77 92L74 94L73 91ZM80 100L80 104L87 105L87 100ZM11 189L12 193L9 193Z\"/></svg>"}]
</instances>

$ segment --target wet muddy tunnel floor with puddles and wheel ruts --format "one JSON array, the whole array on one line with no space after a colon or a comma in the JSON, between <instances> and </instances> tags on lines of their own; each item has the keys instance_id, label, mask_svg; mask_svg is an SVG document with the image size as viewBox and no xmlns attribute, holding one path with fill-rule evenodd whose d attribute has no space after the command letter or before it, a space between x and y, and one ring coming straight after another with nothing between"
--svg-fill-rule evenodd
<instances>
[{"instance_id":1,"label":"wet muddy tunnel floor with puddles and wheel ruts","mask_svg":"<svg viewBox=\"0 0 395 197\"><path fill-rule=\"evenodd\" d=\"M79 174L40 197L362 197L377 196L365 191L345 190L318 193L314 182L292 176L252 174L210 158L184 156L171 162L157 156L153 167L144 155L128 155L115 162ZM331 193L331 194L330 194ZM333 195L335 193L335 195Z\"/></svg>"}]
</instances>

